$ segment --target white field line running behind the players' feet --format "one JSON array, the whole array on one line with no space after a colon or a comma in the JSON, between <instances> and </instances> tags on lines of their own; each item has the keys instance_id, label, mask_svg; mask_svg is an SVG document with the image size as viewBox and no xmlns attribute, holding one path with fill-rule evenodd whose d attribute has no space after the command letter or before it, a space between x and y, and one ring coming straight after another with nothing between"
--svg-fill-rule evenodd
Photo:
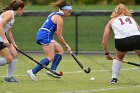
<instances>
[{"instance_id":1,"label":"white field line running behind the players' feet","mask_svg":"<svg viewBox=\"0 0 140 93\"><path fill-rule=\"evenodd\" d=\"M138 70L140 68L127 68L127 69L121 69L122 71L128 71L128 70ZM108 72L111 70L91 70L92 72ZM84 73L83 71L73 71L73 72L63 72L64 74L76 74L76 73ZM26 77L28 75L14 75L15 77ZM0 77L5 77L5 76L0 76Z\"/></svg>"}]
</instances>

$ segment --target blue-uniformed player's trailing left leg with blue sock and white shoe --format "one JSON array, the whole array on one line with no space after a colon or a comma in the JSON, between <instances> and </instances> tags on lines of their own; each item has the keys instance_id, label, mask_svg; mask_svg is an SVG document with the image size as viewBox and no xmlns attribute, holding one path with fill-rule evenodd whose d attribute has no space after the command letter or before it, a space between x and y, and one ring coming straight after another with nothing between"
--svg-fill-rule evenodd
<instances>
[{"instance_id":1,"label":"blue-uniformed player's trailing left leg with blue sock and white shoe","mask_svg":"<svg viewBox=\"0 0 140 93\"><path fill-rule=\"evenodd\" d=\"M47 66L49 62L53 60L54 57L54 43L50 43L48 45L42 45L42 48L45 52L46 58L42 59L40 63ZM34 67L31 70L28 70L27 73L32 80L37 80L35 74L37 74L42 69L43 67L37 64L36 67Z\"/></svg>"}]
</instances>

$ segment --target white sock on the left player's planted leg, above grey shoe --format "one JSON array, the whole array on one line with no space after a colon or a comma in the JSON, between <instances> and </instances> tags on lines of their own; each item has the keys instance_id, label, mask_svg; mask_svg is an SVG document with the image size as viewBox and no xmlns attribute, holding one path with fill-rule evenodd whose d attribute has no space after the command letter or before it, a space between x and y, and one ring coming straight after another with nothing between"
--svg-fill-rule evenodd
<instances>
[{"instance_id":1,"label":"white sock on the left player's planted leg, above grey shoe","mask_svg":"<svg viewBox=\"0 0 140 93\"><path fill-rule=\"evenodd\" d=\"M12 62L10 64L8 64L6 77L13 77L13 72L16 67L16 62L17 62L17 59L12 59Z\"/></svg>"}]
</instances>

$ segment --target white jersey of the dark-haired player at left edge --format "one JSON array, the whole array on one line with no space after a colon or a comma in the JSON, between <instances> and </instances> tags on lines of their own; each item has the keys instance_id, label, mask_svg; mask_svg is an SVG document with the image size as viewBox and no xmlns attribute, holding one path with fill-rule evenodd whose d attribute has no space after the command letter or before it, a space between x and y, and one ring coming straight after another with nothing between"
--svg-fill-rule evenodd
<instances>
[{"instance_id":1,"label":"white jersey of the dark-haired player at left edge","mask_svg":"<svg viewBox=\"0 0 140 93\"><path fill-rule=\"evenodd\" d=\"M14 21L15 21L14 11L13 10L9 10L9 11L12 13L12 19L5 24L5 26L3 28L4 33L6 33L7 31L9 31L10 28L12 28ZM0 15L0 23L1 23L1 21L2 21L2 14ZM3 41L1 36L0 36L0 41Z\"/></svg>"}]
</instances>

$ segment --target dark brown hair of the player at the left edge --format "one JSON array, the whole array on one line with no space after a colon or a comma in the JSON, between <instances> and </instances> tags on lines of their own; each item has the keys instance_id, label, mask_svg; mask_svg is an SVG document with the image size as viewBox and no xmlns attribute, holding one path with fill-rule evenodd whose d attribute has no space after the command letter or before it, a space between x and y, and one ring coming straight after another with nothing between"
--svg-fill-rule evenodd
<instances>
[{"instance_id":1,"label":"dark brown hair of the player at the left edge","mask_svg":"<svg viewBox=\"0 0 140 93\"><path fill-rule=\"evenodd\" d=\"M3 9L3 11L7 11L7 10L13 10L16 11L18 10L20 7L24 8L25 3L22 0L14 0L12 3L10 3L7 7L5 7Z\"/></svg>"}]
</instances>

